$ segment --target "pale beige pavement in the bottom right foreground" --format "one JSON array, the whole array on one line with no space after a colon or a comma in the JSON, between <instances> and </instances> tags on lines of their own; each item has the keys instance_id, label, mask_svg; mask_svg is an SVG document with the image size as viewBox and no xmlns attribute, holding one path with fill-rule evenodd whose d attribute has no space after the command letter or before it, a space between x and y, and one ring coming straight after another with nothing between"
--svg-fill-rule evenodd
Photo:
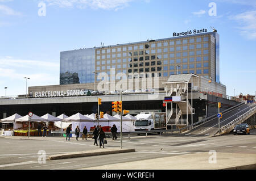
<instances>
[{"instance_id":1,"label":"pale beige pavement in the bottom right foreground","mask_svg":"<svg viewBox=\"0 0 256 181\"><path fill-rule=\"evenodd\" d=\"M143 161L115 163L82 170L216 170L216 169L256 169L255 154L218 153L217 163L209 163L208 153L179 155L148 159Z\"/></svg>"}]
</instances>

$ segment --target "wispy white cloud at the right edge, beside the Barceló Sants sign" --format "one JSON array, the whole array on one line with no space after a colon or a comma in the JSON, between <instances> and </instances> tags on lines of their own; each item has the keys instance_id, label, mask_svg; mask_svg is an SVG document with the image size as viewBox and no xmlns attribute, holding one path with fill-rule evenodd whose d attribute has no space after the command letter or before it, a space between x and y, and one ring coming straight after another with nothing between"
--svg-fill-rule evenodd
<instances>
[{"instance_id":1,"label":"wispy white cloud at the right edge, beside the Barcel\u00f3 Sants sign","mask_svg":"<svg viewBox=\"0 0 256 181\"><path fill-rule=\"evenodd\" d=\"M241 14L229 16L230 19L236 20L240 24L238 30L242 36L247 39L256 39L256 11L247 11Z\"/></svg>"}]
</instances>

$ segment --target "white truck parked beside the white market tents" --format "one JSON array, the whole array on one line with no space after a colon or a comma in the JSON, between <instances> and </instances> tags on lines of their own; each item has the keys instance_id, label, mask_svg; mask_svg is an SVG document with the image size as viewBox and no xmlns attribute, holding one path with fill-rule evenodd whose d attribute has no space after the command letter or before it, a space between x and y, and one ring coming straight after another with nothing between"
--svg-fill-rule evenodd
<instances>
[{"instance_id":1,"label":"white truck parked beside the white market tents","mask_svg":"<svg viewBox=\"0 0 256 181\"><path fill-rule=\"evenodd\" d=\"M166 113L141 112L134 123L135 131L151 131L154 129L166 129Z\"/></svg>"}]
</instances>

